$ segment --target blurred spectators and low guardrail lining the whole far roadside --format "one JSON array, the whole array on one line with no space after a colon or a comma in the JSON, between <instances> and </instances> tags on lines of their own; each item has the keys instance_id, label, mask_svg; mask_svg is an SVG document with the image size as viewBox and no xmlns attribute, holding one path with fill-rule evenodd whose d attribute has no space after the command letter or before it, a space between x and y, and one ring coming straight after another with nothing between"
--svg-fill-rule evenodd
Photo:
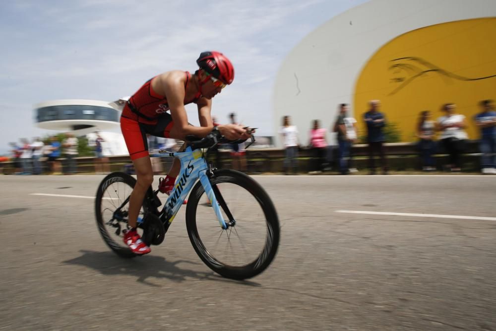
<instances>
[{"instance_id":1,"label":"blurred spectators and low guardrail lining the whole far roadside","mask_svg":"<svg viewBox=\"0 0 496 331\"><path fill-rule=\"evenodd\" d=\"M359 141L357 120L348 115L347 104L338 105L338 115L331 128L321 128L319 120L312 120L309 142L302 144L291 117L284 116L278 132L284 148L245 148L244 144L219 146L211 151L210 159L217 168L233 168L250 173L317 174L338 172L342 175L361 171L376 173L378 157L382 174L389 170L422 170L449 172L481 172L496 174L496 112L493 100L479 102L480 112L472 119L480 131L479 140L469 140L465 129L470 125L464 115L456 113L456 105L442 105L443 115L431 120L431 112L419 114L414 124L418 140L407 143L387 143L384 132L387 119L380 112L380 101L371 100L369 110L362 114L367 128L364 140ZM236 114L229 115L235 124ZM214 119L214 123L216 120ZM326 134L337 134L337 145L329 145ZM438 137L438 140L436 140ZM12 158L0 161L1 174L106 174L124 170L132 173L129 156L109 156L106 141L95 132L88 141L93 157L78 157L78 139L71 132L51 136L45 141L36 137L32 142L20 139L10 143ZM170 157L153 155L159 148L177 151L181 142L148 135L154 173L162 174L172 163ZM222 149L224 148L224 149ZM228 150L226 150L228 149Z\"/></svg>"}]
</instances>

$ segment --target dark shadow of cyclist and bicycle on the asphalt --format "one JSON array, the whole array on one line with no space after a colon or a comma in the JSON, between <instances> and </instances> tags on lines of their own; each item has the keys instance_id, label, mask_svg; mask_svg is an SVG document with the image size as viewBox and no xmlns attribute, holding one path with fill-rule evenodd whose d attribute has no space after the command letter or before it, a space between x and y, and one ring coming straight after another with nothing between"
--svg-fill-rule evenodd
<instances>
[{"instance_id":1,"label":"dark shadow of cyclist and bicycle on the asphalt","mask_svg":"<svg viewBox=\"0 0 496 331\"><path fill-rule=\"evenodd\" d=\"M235 282L247 286L260 286L253 281L236 281L223 278L211 271L195 271L179 267L180 264L202 265L201 263L189 262L185 260L167 261L160 256L147 255L133 259L124 259L116 256L112 252L79 251L80 257L63 261L67 265L84 265L97 270L103 275L131 275L136 276L138 282L150 286L158 286L147 281L148 278L167 278L172 281L182 282L193 278L197 280L213 280L222 282ZM205 266L207 270L207 266Z\"/></svg>"}]
</instances>

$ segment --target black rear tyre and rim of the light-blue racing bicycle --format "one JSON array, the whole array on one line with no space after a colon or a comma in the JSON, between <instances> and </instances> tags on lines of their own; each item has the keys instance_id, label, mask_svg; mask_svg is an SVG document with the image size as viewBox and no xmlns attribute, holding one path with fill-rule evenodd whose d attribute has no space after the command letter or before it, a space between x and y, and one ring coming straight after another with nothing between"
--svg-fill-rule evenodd
<instances>
[{"instance_id":1,"label":"black rear tyre and rim of the light-blue racing bicycle","mask_svg":"<svg viewBox=\"0 0 496 331\"><path fill-rule=\"evenodd\" d=\"M98 186L96 199L95 199L95 214L96 214L96 222L98 225L98 231L100 232L100 235L102 236L107 246L109 246L109 248L112 251L114 251L114 253L116 253L117 255L123 258L134 258L137 256L137 254L132 253L132 251L128 247L124 247L123 246L125 245L124 243L119 244L112 238L110 233L107 231L107 228L105 226L105 220L102 217L102 210L101 210L102 199L104 198L106 189L110 187L112 183L116 183L116 182L122 182L128 185L131 189L134 188L134 185L136 185L136 179L124 172L113 172L107 175L102 180L102 182ZM143 201L143 210L146 211L147 209L149 209L149 207L147 203Z\"/></svg>"}]
</instances>

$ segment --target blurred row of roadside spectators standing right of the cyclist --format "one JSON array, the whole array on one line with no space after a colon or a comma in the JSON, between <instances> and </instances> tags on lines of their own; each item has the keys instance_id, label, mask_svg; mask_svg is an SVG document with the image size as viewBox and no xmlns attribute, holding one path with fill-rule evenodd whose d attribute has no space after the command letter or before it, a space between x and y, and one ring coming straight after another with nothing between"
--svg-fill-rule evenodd
<instances>
[{"instance_id":1,"label":"blurred row of roadside spectators standing right of the cyclist","mask_svg":"<svg viewBox=\"0 0 496 331\"><path fill-rule=\"evenodd\" d=\"M353 147L359 141L356 123L357 120L348 115L348 105L340 104L338 116L331 125L330 132L337 133L337 169L342 175L357 172L356 162L357 148ZM391 157L396 157L392 153L387 141L392 140L387 137L388 120L380 112L381 103L379 100L369 101L369 109L362 114L362 121L366 127L364 140L367 142L365 148L368 161L366 165L361 165L361 169L368 170L368 174L376 174L376 161L378 156L379 169L383 175L387 175L391 168ZM422 171L442 170L450 172L480 171L483 174L496 174L496 112L493 100L482 100L479 102L480 112L471 120L472 125L477 126L480 132L480 139L477 142L477 150L469 149L469 139L465 132L468 125L471 125L464 115L456 112L456 105L446 103L441 106L442 116L436 121L431 120L431 112L426 110L420 112L419 120L415 125L415 132L418 140L411 143L414 150L412 154L420 156ZM313 166L309 173L320 173L329 169L326 160L323 158L327 144L326 129L320 128L319 120L312 120L309 132L310 142L308 147L313 151ZM298 138L298 129L291 125L291 117L284 116L282 127L279 131L283 145L285 147L284 172L286 174L298 172L294 160L298 157L298 147L302 144ZM436 137L438 140L436 141ZM439 153L447 154L443 163L439 164L439 158L434 157ZM464 163L467 155L478 154L480 165L467 165ZM332 154L332 153L331 153ZM327 163L329 157L327 157ZM468 167L468 168L467 168ZM300 170L301 171L301 170Z\"/></svg>"}]
</instances>

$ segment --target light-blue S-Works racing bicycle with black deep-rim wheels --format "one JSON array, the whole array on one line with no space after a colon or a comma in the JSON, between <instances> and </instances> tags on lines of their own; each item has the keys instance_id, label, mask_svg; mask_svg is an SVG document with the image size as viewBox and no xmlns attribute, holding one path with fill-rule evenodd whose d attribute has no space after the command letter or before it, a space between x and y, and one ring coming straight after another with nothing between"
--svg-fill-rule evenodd
<instances>
[{"instance_id":1,"label":"light-blue S-Works racing bicycle with black deep-rim wheels","mask_svg":"<svg viewBox=\"0 0 496 331\"><path fill-rule=\"evenodd\" d=\"M254 137L251 135L250 144ZM181 161L174 190L165 203L159 190L148 189L138 217L138 232L148 246L160 245L189 194L186 230L200 259L216 273L231 279L258 275L273 261L279 246L276 209L265 190L248 175L216 169L208 152L228 141L214 132L205 138L186 137L183 152L162 154ZM98 187L95 212L105 243L121 257L136 255L123 242L127 228L129 196L136 179L123 172L106 176Z\"/></svg>"}]
</instances>

